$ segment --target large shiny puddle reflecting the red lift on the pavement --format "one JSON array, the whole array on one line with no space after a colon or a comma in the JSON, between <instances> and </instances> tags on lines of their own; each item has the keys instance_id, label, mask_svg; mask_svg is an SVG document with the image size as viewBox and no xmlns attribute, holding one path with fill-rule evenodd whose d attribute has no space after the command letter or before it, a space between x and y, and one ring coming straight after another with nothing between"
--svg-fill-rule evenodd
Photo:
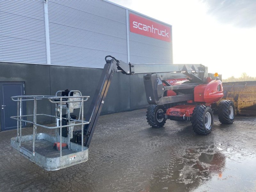
<instances>
[{"instance_id":1,"label":"large shiny puddle reflecting the red lift on the pavement","mask_svg":"<svg viewBox=\"0 0 256 192\"><path fill-rule=\"evenodd\" d=\"M239 186L240 191L248 191L244 188L247 185L255 188L256 156L231 152L214 151L212 147L188 149L185 155L159 167L142 191L237 191Z\"/></svg>"}]
</instances>

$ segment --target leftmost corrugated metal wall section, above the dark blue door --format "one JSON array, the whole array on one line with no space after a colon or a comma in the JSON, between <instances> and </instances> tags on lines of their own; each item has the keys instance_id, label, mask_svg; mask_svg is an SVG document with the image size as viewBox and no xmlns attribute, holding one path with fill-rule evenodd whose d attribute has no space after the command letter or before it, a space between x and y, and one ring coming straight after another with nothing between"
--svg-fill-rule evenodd
<instances>
[{"instance_id":1,"label":"leftmost corrugated metal wall section, above the dark blue door","mask_svg":"<svg viewBox=\"0 0 256 192\"><path fill-rule=\"evenodd\" d=\"M0 1L0 61L46 63L42 0Z\"/></svg>"}]
</instances>

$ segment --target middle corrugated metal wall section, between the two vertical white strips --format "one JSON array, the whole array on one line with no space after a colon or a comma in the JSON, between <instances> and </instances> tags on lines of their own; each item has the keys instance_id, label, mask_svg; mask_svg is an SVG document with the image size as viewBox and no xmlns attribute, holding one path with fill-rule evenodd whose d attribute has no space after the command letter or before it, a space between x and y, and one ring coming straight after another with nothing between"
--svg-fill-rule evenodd
<instances>
[{"instance_id":1,"label":"middle corrugated metal wall section, between the two vertical white strips","mask_svg":"<svg viewBox=\"0 0 256 192\"><path fill-rule=\"evenodd\" d=\"M124 8L102 0L56 0L48 1L48 14L51 64L103 68L106 55L127 62Z\"/></svg>"}]
</instances>

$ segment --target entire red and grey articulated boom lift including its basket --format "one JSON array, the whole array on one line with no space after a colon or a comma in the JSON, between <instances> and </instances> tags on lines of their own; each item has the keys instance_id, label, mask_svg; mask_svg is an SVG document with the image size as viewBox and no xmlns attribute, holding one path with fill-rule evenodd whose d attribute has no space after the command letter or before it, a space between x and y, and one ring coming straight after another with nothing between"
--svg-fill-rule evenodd
<instances>
[{"instance_id":1,"label":"entire red and grey articulated boom lift including its basket","mask_svg":"<svg viewBox=\"0 0 256 192\"><path fill-rule=\"evenodd\" d=\"M109 57L111 60L107 59ZM140 64L134 66L131 63L127 64L117 60L112 56L106 56L105 60L106 64L85 119L83 119L83 102L88 100L89 96L82 96L79 91L59 91L61 96L57 96L57 92L56 96L12 97L13 100L18 101L17 116L12 117L18 120L17 137L11 139L12 147L46 170L58 170L87 161L88 148L93 132L112 76L116 72L126 75L145 74L144 86L147 101L150 104L146 116L150 126L155 128L162 127L166 120L170 119L191 121L194 131L200 135L208 135L212 131L213 106L215 106L213 104L223 97L223 87L218 77L215 80L207 77L207 67L201 64ZM187 78L186 81L174 84L168 82L169 79L184 77ZM55 103L56 115L51 116L56 118L55 127L47 127L36 123L36 116L44 115L36 114L36 101L41 99L48 99L50 102ZM21 103L25 100L34 100L34 115L27 115L34 116L33 122L24 120L21 113L19 115ZM82 112L81 120L80 115L78 120L71 118L70 112L73 112L75 108L80 108L80 113ZM64 114L64 117L62 114L63 109L67 110L67 114ZM59 112L59 115L57 115L57 112ZM232 101L223 100L220 102L218 115L222 124L232 124L234 112ZM33 124L33 135L21 136L21 121ZM62 121L65 121L66 125L63 125ZM74 125L80 125L81 130L73 131ZM36 133L36 126L55 129L56 136L52 137L45 133ZM44 145L47 144L49 147L43 146L41 140L44 140ZM36 146L37 143L39 147ZM53 151L51 143L54 143L54 150L60 150L59 155L56 154L56 151ZM43 146L44 150L40 146ZM63 146L65 149L62 149Z\"/></svg>"}]
</instances>

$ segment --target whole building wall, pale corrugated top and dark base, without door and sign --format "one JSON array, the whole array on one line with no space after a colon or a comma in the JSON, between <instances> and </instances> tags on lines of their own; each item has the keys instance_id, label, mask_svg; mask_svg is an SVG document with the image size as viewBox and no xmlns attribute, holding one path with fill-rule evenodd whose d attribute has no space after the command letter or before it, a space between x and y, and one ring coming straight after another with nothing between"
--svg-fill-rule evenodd
<instances>
[{"instance_id":1,"label":"whole building wall, pale corrugated top and dark base, without door and sign","mask_svg":"<svg viewBox=\"0 0 256 192\"><path fill-rule=\"evenodd\" d=\"M0 82L25 82L26 95L75 89L92 97L106 55L136 64L172 63L172 41L130 32L129 13L164 23L105 0L13 0L0 7ZM101 114L146 106L143 75L117 73ZM55 113L50 103L38 107Z\"/></svg>"}]
</instances>

